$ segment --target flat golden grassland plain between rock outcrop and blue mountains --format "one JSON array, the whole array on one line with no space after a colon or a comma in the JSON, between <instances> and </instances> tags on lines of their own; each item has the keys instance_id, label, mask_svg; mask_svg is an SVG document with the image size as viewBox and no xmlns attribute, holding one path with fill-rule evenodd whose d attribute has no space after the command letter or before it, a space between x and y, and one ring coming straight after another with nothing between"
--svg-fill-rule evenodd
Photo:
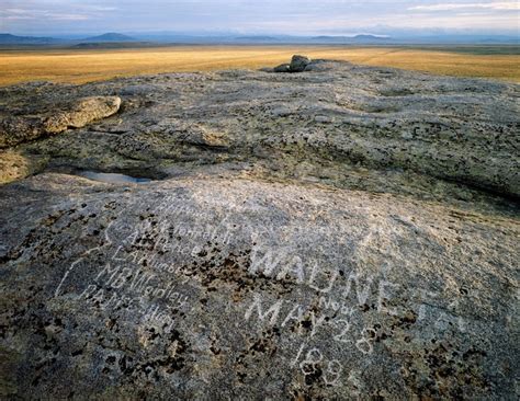
<instances>
[{"instance_id":1,"label":"flat golden grassland plain between rock outcrop and blue mountains","mask_svg":"<svg viewBox=\"0 0 520 401\"><path fill-rule=\"evenodd\" d=\"M160 72L258 69L312 58L456 77L520 82L520 46L169 46L124 49L2 49L0 85L27 81L86 83Z\"/></svg>"}]
</instances>

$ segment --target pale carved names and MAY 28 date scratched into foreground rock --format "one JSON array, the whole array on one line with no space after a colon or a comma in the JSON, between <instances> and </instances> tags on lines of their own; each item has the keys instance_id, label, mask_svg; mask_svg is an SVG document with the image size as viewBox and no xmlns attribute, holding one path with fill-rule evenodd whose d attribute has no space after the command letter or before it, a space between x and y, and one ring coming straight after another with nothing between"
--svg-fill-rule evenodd
<instances>
[{"instance_id":1,"label":"pale carved names and MAY 28 date scratched into foreground rock","mask_svg":"<svg viewBox=\"0 0 520 401\"><path fill-rule=\"evenodd\" d=\"M403 288L387 278L383 267L369 274L352 261L339 267L340 263L305 257L304 252L292 248L290 240L276 245L262 242L262 238L269 239L276 232L272 227L250 231L249 225L240 227L233 220L234 213L201 224L200 213L196 207L179 206L166 197L135 227L118 216L105 228L103 243L84 251L69 265L55 296L64 295L66 283L81 271L79 266L95 263L95 256L102 254L105 262L89 276L76 299L108 313L125 309L138 316L142 324L171 332L176 313L190 308L191 302L183 287L191 278L183 275L182 263L197 262L205 243L233 249L237 238L250 241L249 263L244 268L249 276L291 283L306 296L273 298L272 294L258 290L245 303L238 303L237 313L259 330L278 328L289 335L294 345L291 353L296 350L287 359L290 367L305 380L319 376L326 386L341 383L349 376L349 368L338 354L324 347L324 339L341 352L370 357L377 334L374 325L381 326L406 308L393 302ZM426 302L436 297L433 293L421 294L416 319L434 319L438 329L455 321L459 330L464 331L462 319Z\"/></svg>"}]
</instances>

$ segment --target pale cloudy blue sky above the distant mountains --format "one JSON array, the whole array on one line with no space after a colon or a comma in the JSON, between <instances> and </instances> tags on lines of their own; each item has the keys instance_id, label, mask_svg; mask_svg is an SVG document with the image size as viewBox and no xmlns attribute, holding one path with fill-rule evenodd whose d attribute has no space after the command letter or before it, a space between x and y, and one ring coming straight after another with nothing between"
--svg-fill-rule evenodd
<instances>
[{"instance_id":1,"label":"pale cloudy blue sky above the distant mountains","mask_svg":"<svg viewBox=\"0 0 520 401\"><path fill-rule=\"evenodd\" d=\"M0 0L0 32L519 34L520 0Z\"/></svg>"}]
</instances>

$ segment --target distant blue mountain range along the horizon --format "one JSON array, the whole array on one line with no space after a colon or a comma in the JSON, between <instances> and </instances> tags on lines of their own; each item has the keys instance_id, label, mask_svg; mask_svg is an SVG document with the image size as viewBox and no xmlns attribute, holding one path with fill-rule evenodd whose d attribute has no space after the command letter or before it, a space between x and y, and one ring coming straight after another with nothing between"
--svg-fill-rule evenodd
<instances>
[{"instance_id":1,"label":"distant blue mountain range along the horizon","mask_svg":"<svg viewBox=\"0 0 520 401\"><path fill-rule=\"evenodd\" d=\"M179 33L124 34L110 32L84 38L55 38L0 34L0 46L65 46L80 48L116 48L152 46L154 44L344 44L344 45L414 45L414 44L509 44L520 45L512 36L421 36L388 37L370 34L355 36L291 36L291 35L185 35Z\"/></svg>"}]
</instances>

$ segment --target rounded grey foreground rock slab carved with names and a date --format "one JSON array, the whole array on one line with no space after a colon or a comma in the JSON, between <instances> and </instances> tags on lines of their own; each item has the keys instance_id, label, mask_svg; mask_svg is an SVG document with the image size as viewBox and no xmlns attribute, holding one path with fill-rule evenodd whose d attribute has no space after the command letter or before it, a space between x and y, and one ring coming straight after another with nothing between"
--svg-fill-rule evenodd
<instances>
[{"instance_id":1,"label":"rounded grey foreground rock slab carved with names and a date","mask_svg":"<svg viewBox=\"0 0 520 401\"><path fill-rule=\"evenodd\" d=\"M0 209L2 397L518 396L512 220L59 174L3 187Z\"/></svg>"}]
</instances>

